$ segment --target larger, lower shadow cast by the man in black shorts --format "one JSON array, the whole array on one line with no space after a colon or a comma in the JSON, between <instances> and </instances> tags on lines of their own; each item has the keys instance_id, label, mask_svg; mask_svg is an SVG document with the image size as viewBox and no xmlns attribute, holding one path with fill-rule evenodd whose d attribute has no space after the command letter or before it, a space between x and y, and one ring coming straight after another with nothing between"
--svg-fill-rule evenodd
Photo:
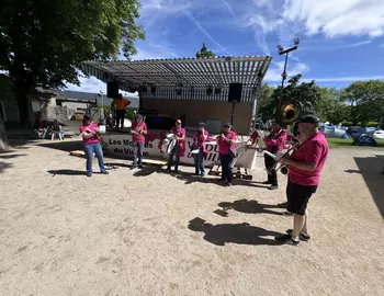
<instances>
[{"instance_id":1,"label":"larger, lower shadow cast by the man in black shorts","mask_svg":"<svg viewBox=\"0 0 384 296\"><path fill-rule=\"evenodd\" d=\"M204 239L216 246L225 246L225 243L238 244L268 244L281 246L282 243L275 241L273 238L281 234L270 231L257 226L250 226L247 223L241 224L217 224L212 225L205 220L196 217L189 223L188 228L192 231L204 232Z\"/></svg>"}]
</instances>

